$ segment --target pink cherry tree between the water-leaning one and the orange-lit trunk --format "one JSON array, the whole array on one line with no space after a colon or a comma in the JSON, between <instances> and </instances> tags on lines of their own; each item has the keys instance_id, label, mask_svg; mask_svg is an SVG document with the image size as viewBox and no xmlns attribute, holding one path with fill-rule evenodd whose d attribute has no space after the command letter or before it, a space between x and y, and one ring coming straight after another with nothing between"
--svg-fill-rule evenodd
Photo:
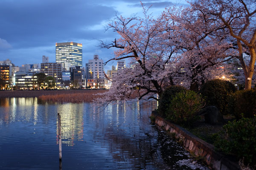
<instances>
[{"instance_id":1,"label":"pink cherry tree between the water-leaning one and the orange-lit trunk","mask_svg":"<svg viewBox=\"0 0 256 170\"><path fill-rule=\"evenodd\" d=\"M177 81L198 91L207 79L223 74L223 70L218 68L236 55L234 45L225 32L226 26L211 20L204 11L191 8L167 8L164 15L166 20L172 20L174 41L182 55Z\"/></svg>"}]
</instances>

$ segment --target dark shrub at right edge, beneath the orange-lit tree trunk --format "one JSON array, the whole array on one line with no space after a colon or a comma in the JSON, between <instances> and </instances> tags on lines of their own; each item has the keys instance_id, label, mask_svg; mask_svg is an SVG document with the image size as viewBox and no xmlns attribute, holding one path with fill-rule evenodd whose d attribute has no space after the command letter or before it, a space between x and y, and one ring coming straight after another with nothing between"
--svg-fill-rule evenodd
<instances>
[{"instance_id":1,"label":"dark shrub at right edge, beneath the orange-lit tree trunk","mask_svg":"<svg viewBox=\"0 0 256 170\"><path fill-rule=\"evenodd\" d=\"M236 91L230 96L228 110L236 119L253 118L256 115L256 89Z\"/></svg>"}]
</instances>

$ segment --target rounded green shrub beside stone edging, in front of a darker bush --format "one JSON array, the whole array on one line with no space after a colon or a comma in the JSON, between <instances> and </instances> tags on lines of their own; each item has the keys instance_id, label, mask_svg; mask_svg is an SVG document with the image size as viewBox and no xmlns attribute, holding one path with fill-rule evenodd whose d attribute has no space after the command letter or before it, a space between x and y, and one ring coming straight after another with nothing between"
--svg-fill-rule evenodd
<instances>
[{"instance_id":1,"label":"rounded green shrub beside stone edging, in front of a darker bush","mask_svg":"<svg viewBox=\"0 0 256 170\"><path fill-rule=\"evenodd\" d=\"M177 93L168 105L167 119L179 125L190 126L198 119L196 113L203 107L201 97L194 91L181 91Z\"/></svg>"}]
</instances>

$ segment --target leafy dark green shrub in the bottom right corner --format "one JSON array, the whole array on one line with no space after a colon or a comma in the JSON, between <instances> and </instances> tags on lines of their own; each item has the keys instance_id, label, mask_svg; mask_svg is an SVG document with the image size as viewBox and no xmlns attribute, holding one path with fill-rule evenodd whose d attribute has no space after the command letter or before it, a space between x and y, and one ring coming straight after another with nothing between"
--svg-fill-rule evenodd
<instances>
[{"instance_id":1,"label":"leafy dark green shrub in the bottom right corner","mask_svg":"<svg viewBox=\"0 0 256 170\"><path fill-rule=\"evenodd\" d=\"M244 163L256 165L256 117L234 120L223 126L215 146L224 153L244 158Z\"/></svg>"}]
</instances>

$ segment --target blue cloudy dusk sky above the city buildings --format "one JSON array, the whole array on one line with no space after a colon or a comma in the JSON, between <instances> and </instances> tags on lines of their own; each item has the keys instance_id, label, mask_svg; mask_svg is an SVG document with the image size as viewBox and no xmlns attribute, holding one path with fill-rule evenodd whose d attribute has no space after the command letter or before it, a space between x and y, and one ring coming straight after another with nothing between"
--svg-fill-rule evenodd
<instances>
[{"instance_id":1,"label":"blue cloudy dusk sky above the city buildings","mask_svg":"<svg viewBox=\"0 0 256 170\"><path fill-rule=\"evenodd\" d=\"M160 14L166 6L186 4L185 0L143 0L150 13ZM105 31L108 20L117 13L140 16L140 0L0 0L0 61L10 59L17 66L40 64L42 56L55 62L55 42L83 45L83 66L93 54L104 62L114 49L100 49L98 40L118 37ZM116 65L110 62L105 71Z\"/></svg>"}]
</instances>

